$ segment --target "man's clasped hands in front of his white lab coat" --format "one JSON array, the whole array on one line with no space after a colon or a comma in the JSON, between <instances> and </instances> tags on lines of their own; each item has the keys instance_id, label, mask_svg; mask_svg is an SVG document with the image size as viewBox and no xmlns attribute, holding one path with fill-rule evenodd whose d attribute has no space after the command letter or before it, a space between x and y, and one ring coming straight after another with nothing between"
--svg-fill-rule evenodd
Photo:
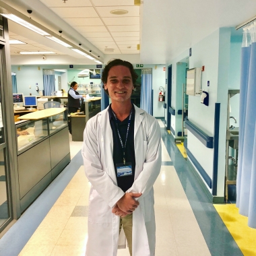
<instances>
[{"instance_id":1,"label":"man's clasped hands in front of his white lab coat","mask_svg":"<svg viewBox=\"0 0 256 256\"><path fill-rule=\"evenodd\" d=\"M125 217L128 214L131 214L139 205L139 202L134 199L134 197L140 197L141 193L125 193L117 204L113 207L113 214L121 217Z\"/></svg>"}]
</instances>

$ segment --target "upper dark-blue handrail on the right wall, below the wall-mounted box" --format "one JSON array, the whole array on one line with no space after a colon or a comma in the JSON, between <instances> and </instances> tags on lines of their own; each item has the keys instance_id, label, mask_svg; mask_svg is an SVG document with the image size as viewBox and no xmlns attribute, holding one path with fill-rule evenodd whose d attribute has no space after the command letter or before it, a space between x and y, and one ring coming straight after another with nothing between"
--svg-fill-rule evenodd
<instances>
[{"instance_id":1,"label":"upper dark-blue handrail on the right wall, below the wall-mounted box","mask_svg":"<svg viewBox=\"0 0 256 256\"><path fill-rule=\"evenodd\" d=\"M195 126L191 121L185 119L185 127L203 143L206 148L214 148L214 137L208 136L205 132Z\"/></svg>"}]
</instances>

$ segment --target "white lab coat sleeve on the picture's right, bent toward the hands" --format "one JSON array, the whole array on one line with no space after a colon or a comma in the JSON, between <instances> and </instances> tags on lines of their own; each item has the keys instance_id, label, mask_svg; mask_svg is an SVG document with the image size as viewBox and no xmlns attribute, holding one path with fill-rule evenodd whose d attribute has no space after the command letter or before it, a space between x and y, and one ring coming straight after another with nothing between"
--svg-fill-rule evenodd
<instances>
[{"instance_id":1,"label":"white lab coat sleeve on the picture's right, bent toward the hands","mask_svg":"<svg viewBox=\"0 0 256 256\"><path fill-rule=\"evenodd\" d=\"M148 133L146 158L139 176L127 192L142 193L146 196L152 189L162 164L161 131L157 121L154 121Z\"/></svg>"}]
</instances>

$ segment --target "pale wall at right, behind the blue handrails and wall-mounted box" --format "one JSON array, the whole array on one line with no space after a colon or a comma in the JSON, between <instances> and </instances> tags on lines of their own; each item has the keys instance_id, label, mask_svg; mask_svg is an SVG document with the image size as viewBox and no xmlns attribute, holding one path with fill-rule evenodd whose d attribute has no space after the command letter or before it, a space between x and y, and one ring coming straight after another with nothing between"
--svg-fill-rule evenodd
<instances>
[{"instance_id":1,"label":"pale wall at right, behind the blue handrails and wall-mounted box","mask_svg":"<svg viewBox=\"0 0 256 256\"><path fill-rule=\"evenodd\" d=\"M189 121L209 136L214 136L215 103L221 104L220 109L220 141L218 154L218 187L217 196L224 196L225 141L226 141L226 102L228 92L228 76L230 61L230 29L220 28L191 46L189 69L205 66L202 73L201 87L210 95L209 106L201 104L200 96L189 96ZM177 62L184 59L189 49L168 63L172 65L172 107L177 106ZM207 81L210 86L207 86ZM173 120L172 116L172 120ZM172 121L171 125L175 125ZM176 125L177 126L177 125ZM174 126L172 126L174 128ZM176 131L175 131L176 133ZM212 179L214 150L206 148L192 133L188 132L187 146L205 172ZM206 183L205 183L206 185ZM208 187L206 185L206 187ZM209 191L212 192L210 188Z\"/></svg>"}]
</instances>

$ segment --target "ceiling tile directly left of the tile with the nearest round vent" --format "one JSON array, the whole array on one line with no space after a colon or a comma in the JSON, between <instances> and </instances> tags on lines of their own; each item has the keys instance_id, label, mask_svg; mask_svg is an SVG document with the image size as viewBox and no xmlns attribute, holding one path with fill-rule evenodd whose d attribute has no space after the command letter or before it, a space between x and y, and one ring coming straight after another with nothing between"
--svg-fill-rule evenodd
<instances>
[{"instance_id":1,"label":"ceiling tile directly left of the tile with the nearest round vent","mask_svg":"<svg viewBox=\"0 0 256 256\"><path fill-rule=\"evenodd\" d=\"M94 7L52 7L61 18L94 18L98 17Z\"/></svg>"}]
</instances>

